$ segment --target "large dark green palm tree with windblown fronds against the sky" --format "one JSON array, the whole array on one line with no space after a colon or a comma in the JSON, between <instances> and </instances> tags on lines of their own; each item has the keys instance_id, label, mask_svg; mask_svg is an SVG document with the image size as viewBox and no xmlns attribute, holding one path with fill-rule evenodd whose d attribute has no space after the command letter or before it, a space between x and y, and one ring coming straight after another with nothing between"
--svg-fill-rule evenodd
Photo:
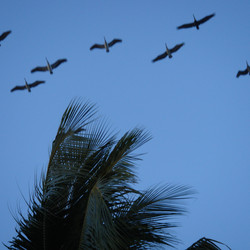
<instances>
[{"instance_id":1,"label":"large dark green palm tree with windblown fronds against the sky","mask_svg":"<svg viewBox=\"0 0 250 250\"><path fill-rule=\"evenodd\" d=\"M20 212L8 249L146 249L174 246L172 219L185 212L186 186L137 182L134 151L149 141L143 129L119 140L94 116L90 103L73 100L52 144L46 174L35 184L28 215Z\"/></svg>"}]
</instances>

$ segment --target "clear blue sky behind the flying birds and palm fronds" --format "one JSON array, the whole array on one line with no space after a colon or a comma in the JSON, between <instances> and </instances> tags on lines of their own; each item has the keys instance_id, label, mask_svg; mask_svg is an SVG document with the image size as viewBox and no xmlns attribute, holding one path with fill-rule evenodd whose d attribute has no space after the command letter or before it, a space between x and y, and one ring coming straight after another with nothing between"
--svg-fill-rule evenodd
<instances>
[{"instance_id":1,"label":"clear blue sky behind the flying birds and palm fronds","mask_svg":"<svg viewBox=\"0 0 250 250\"><path fill-rule=\"evenodd\" d=\"M195 28L176 27L211 13ZM0 235L7 242L25 212L35 176L49 159L61 116L74 97L96 103L122 135L140 126L153 139L138 152L140 188L193 186L188 214L177 218L177 249L205 236L232 249L250 249L249 0L5 0L0 33ZM120 38L110 53L89 48ZM173 58L152 59L175 44ZM48 72L30 70L68 62ZM27 91L10 89L45 80ZM3 246L0 248L4 248Z\"/></svg>"}]
</instances>

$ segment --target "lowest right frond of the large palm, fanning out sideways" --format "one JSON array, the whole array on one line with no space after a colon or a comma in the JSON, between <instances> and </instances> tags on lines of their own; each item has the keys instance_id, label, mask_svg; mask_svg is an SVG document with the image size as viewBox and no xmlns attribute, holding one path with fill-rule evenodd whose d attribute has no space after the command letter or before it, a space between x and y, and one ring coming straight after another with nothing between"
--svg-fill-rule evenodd
<instances>
[{"instance_id":1,"label":"lowest right frond of the large palm, fanning out sideways","mask_svg":"<svg viewBox=\"0 0 250 250\"><path fill-rule=\"evenodd\" d=\"M147 247L173 246L178 240L169 230L176 225L173 217L185 213L181 200L190 198L194 191L185 186L154 187L130 199L118 210L116 224L127 247L145 249Z\"/></svg>"}]
</instances>

